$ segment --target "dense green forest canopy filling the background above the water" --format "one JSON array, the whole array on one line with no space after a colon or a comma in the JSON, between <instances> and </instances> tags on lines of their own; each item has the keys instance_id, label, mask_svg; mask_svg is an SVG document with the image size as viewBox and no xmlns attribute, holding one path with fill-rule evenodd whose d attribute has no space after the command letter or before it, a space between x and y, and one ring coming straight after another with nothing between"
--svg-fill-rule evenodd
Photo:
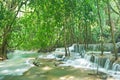
<instances>
[{"instance_id":1,"label":"dense green forest canopy filling the background above the water","mask_svg":"<svg viewBox=\"0 0 120 80\"><path fill-rule=\"evenodd\" d=\"M0 56L119 38L120 0L0 0Z\"/></svg>"}]
</instances>

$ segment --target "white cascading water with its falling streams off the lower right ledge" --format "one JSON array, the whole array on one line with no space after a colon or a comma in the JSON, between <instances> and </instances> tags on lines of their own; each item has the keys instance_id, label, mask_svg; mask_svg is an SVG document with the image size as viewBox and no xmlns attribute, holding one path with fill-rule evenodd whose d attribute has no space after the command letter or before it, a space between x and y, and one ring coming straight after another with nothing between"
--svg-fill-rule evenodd
<instances>
[{"instance_id":1,"label":"white cascading water with its falling streams off the lower right ledge","mask_svg":"<svg viewBox=\"0 0 120 80\"><path fill-rule=\"evenodd\" d=\"M106 73L115 80L120 79L120 65L119 64L113 64L112 69L110 69L110 60L106 59L106 62L104 62L104 67L100 66L100 62L104 58L99 58L98 56L95 56L94 63L90 62L91 55L85 54L84 58L74 59L74 60L67 60L64 62L64 64L60 64L59 66L73 66L75 68L85 68L85 69L92 69L92 70L98 70L100 72Z\"/></svg>"}]
</instances>

